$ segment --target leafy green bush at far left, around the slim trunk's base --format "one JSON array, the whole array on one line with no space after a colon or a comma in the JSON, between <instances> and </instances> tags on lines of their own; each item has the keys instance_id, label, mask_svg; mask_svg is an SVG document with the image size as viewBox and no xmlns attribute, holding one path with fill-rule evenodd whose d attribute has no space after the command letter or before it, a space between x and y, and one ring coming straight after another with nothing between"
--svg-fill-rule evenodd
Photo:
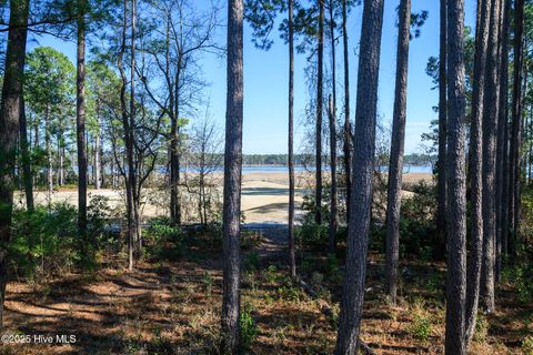
<instances>
[{"instance_id":1,"label":"leafy green bush at far left, around the slim trunk's base","mask_svg":"<svg viewBox=\"0 0 533 355\"><path fill-rule=\"evenodd\" d=\"M33 280L72 267L92 270L95 252L109 241L109 199L92 196L88 205L87 232L78 231L78 210L68 203L16 210L9 243L17 275Z\"/></svg>"}]
</instances>

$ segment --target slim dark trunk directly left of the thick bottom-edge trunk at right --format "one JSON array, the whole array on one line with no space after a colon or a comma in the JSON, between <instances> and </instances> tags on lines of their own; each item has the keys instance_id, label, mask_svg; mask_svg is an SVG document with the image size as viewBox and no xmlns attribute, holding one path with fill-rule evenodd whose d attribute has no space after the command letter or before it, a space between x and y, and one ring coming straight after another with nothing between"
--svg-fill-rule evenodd
<instances>
[{"instance_id":1,"label":"slim dark trunk directly left of the thick bottom-edge trunk at right","mask_svg":"<svg viewBox=\"0 0 533 355\"><path fill-rule=\"evenodd\" d=\"M447 85L446 85L446 0L440 0L440 49L439 49L439 160L438 160L438 212L436 230L441 248L445 250L446 235L446 113L447 113Z\"/></svg>"}]
</instances>

